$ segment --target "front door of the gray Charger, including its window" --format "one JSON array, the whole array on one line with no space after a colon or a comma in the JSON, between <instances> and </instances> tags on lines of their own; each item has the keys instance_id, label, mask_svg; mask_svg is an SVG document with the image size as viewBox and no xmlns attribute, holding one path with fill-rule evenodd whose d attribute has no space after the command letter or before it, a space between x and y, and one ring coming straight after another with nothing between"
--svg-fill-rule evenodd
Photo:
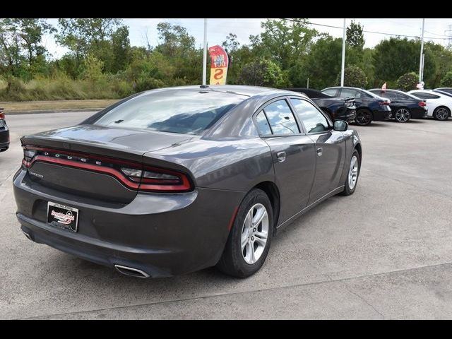
<instances>
[{"instance_id":1,"label":"front door of the gray Charger, including its window","mask_svg":"<svg viewBox=\"0 0 452 339\"><path fill-rule=\"evenodd\" d=\"M342 132L334 131L331 121L308 100L291 97L307 136L314 141L316 151L316 174L309 194L308 204L337 189L345 162L345 138Z\"/></svg>"}]
</instances>

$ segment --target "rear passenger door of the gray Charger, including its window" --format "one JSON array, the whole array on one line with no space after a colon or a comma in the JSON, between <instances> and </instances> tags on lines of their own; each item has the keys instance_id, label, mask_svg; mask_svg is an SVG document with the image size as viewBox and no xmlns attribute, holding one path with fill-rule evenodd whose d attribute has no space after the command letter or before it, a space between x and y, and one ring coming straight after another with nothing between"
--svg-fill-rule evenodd
<instances>
[{"instance_id":1,"label":"rear passenger door of the gray Charger, including its window","mask_svg":"<svg viewBox=\"0 0 452 339\"><path fill-rule=\"evenodd\" d=\"M255 114L261 138L270 146L280 193L280 223L307 206L314 181L314 141L297 123L287 98L268 102Z\"/></svg>"}]
</instances>

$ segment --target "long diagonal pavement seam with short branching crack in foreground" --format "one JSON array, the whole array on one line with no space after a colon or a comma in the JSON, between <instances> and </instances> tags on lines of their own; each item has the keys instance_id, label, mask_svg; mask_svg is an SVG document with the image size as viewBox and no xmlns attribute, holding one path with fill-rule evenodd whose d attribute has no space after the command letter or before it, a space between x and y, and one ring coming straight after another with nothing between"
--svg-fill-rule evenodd
<instances>
[{"instance_id":1,"label":"long diagonal pavement seam with short branching crack in foreground","mask_svg":"<svg viewBox=\"0 0 452 339\"><path fill-rule=\"evenodd\" d=\"M432 267L445 266L445 265L451 265L451 264L452 264L452 262L436 263L434 265L419 266L419 267L413 267L413 268L404 268L402 270L390 270L388 272L383 272L383 273L372 273L372 274L367 274L367 275L357 275L355 277L348 277L348 278L341 278L341 279L334 279L334 280L316 281L314 283L302 283L302 284L295 284L295 285L269 287L269 288L262 288L260 290L251 290L251 291L247 290L247 291L232 292L232 293L220 293L218 295L204 295L204 296L201 296L201 297L190 297L190 298L184 298L184 299L164 300L162 302L145 302L143 304L124 305L124 306L117 306L117 307L106 307L105 309L89 309L89 310L86 310L86 311L75 311L75 312L47 314L47 315L43 315L43 316L28 316L28 317L25 317L25 318L16 318L16 319L18 319L18 320L45 319L45 318L49 318L49 317L52 317L52 316L64 316L64 315L69 315L69 314L84 314L84 313L88 313L88 312L109 311L109 310L112 310L112 309L127 309L129 307L143 307L143 306L158 305L158 304L169 304L169 303L172 303L172 302L188 302L188 301L197 300L197 299L208 299L208 298L213 298L213 297L225 297L225 296L228 296L228 295L241 295L241 294L250 293L250 292L266 292L266 291L273 291L273 290L283 290L285 288L290 288L290 287L303 287L303 286L320 285L320 284L326 284L326 283L344 283L345 284L345 281L352 280L352 279L369 278L369 277L374 277L374 276L379 276L379 275L386 275L386 274L392 274L392 273L403 273L403 272L409 272L410 270L418 270L418 269L422 269L422 268L432 268ZM330 276L328 274L327 274L327 278L330 278ZM347 288L347 290L348 290L348 288ZM354 292L352 292L350 290L348 290L348 291L351 292L352 294L355 294ZM372 307L371 304L369 304L365 299L363 299L359 295L357 295L357 297L361 298L364 302L366 302L366 304L368 304L370 307ZM380 314L381 316L383 316L383 314L381 314L376 309L375 309L375 311L378 314Z\"/></svg>"}]
</instances>

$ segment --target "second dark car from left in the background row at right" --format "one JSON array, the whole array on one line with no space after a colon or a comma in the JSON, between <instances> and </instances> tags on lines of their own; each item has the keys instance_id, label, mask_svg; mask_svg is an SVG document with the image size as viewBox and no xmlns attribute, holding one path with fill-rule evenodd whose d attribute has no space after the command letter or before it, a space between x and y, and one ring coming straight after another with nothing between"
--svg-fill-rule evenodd
<instances>
[{"instance_id":1,"label":"second dark car from left in the background row at right","mask_svg":"<svg viewBox=\"0 0 452 339\"><path fill-rule=\"evenodd\" d=\"M375 95L368 90L355 87L329 87L322 93L332 97L350 97L355 99L356 118L355 123L359 126L367 126L372 121L385 121L391 119L392 113L390 100Z\"/></svg>"}]
</instances>

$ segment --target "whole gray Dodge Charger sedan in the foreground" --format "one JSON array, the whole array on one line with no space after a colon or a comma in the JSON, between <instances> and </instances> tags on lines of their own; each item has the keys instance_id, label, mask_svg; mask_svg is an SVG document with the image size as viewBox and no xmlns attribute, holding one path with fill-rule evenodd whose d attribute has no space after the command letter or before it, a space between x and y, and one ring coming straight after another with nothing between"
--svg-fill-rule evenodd
<instances>
[{"instance_id":1,"label":"whole gray Dodge Charger sedan in the foreground","mask_svg":"<svg viewBox=\"0 0 452 339\"><path fill-rule=\"evenodd\" d=\"M362 147L300 93L187 86L23 136L25 236L126 275L255 273L277 230L357 186Z\"/></svg>"}]
</instances>

